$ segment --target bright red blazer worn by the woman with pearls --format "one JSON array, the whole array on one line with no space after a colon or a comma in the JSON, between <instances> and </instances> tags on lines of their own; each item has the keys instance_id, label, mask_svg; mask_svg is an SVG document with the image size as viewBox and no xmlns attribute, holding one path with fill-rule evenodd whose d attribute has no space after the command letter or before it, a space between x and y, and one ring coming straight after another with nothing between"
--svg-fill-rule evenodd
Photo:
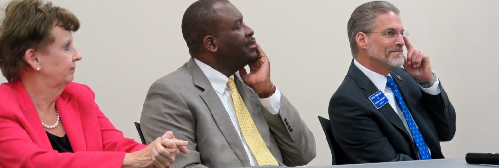
<instances>
[{"instance_id":1,"label":"bright red blazer worn by the woman with pearls","mask_svg":"<svg viewBox=\"0 0 499 168\"><path fill-rule=\"evenodd\" d=\"M0 168L119 168L125 153L146 147L111 124L86 85L70 83L55 101L74 153L52 150L19 80L0 85Z\"/></svg>"}]
</instances>

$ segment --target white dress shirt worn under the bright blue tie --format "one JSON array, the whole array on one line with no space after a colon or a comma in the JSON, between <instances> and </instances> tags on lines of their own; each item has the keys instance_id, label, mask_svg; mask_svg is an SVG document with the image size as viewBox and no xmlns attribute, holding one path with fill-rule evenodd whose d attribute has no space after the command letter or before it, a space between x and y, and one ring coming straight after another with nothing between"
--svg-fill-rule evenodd
<instances>
[{"instance_id":1,"label":"white dress shirt worn under the bright blue tie","mask_svg":"<svg viewBox=\"0 0 499 168\"><path fill-rule=\"evenodd\" d=\"M395 95L392 92L392 88L386 87L386 83L388 81L386 79L387 76L381 75L377 72L374 72L374 71L367 69L366 67L362 66L359 62L357 62L357 60L355 60L355 59L353 59L353 63L355 64L355 66L357 66L357 68L360 69L360 71L362 71L367 76L367 78L369 78L369 80L371 80L371 82L373 82L373 84L376 86L376 88L378 88L381 92L383 92L383 94L388 99L388 103L390 104L390 106L392 106L395 113L397 113L399 118L402 120L402 123L404 123L404 126L406 127L407 131L409 132L409 135L411 135L411 140L414 142L414 140L412 138L411 130L409 129L409 126L407 125L406 118L404 117L402 110L400 110L399 106L397 105L397 102L395 102ZM391 77L392 75L390 73L388 73L388 76ZM396 80L396 79L393 79L393 80ZM433 86L431 86L430 88L424 88L421 86L419 86L419 87L424 92L426 92L430 95L438 95L438 94L440 94L440 87L438 87L438 84L439 84L439 80L437 78L437 82L435 82L433 84ZM428 151L430 151L430 148L428 148Z\"/></svg>"}]
</instances>

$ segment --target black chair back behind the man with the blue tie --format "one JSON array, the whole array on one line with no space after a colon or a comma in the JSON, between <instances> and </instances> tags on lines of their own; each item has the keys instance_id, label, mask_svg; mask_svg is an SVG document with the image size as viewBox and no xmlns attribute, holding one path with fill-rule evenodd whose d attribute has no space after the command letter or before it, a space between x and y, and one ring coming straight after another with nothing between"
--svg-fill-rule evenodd
<instances>
[{"instance_id":1,"label":"black chair back behind the man with the blue tie","mask_svg":"<svg viewBox=\"0 0 499 168\"><path fill-rule=\"evenodd\" d=\"M327 143L329 144L329 149L331 150L331 156L333 159L332 165L352 164L350 159L346 156L346 153L334 140L333 132L331 131L331 122L320 116L317 117L319 118L320 125L322 126L322 130L324 130L324 135L326 135Z\"/></svg>"}]
</instances>

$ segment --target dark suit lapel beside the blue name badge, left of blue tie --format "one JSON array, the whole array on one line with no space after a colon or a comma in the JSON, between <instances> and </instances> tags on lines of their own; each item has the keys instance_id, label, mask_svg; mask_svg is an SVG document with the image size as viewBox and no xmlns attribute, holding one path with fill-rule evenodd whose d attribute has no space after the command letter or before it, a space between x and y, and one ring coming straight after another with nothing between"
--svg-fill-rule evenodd
<instances>
[{"instance_id":1,"label":"dark suit lapel beside the blue name badge, left of blue tie","mask_svg":"<svg viewBox=\"0 0 499 168\"><path fill-rule=\"evenodd\" d=\"M364 93L364 96L367 101L369 101L369 97L372 96L374 93L376 93L378 88L372 83L371 80L362 72L360 71L355 64L352 63L350 64L350 69L348 70L348 74L357 82L359 85L359 88L366 90ZM371 109L376 109L374 104L371 103ZM397 113L393 110L393 108L390 106L390 104L385 104L383 107L378 109L379 112L381 112L389 121L392 123L395 127L399 128L401 131L403 131L407 137L410 137L409 132L407 131L406 127L404 126L404 123L402 123L402 120L399 118Z\"/></svg>"}]
</instances>

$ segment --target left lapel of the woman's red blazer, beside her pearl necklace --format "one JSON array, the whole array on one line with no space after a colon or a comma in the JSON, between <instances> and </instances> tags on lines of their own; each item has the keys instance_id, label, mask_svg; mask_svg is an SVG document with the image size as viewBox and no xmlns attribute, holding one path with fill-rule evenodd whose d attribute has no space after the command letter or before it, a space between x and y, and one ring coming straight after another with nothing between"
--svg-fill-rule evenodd
<instances>
[{"instance_id":1,"label":"left lapel of the woman's red blazer, beside her pearl necklace","mask_svg":"<svg viewBox=\"0 0 499 168\"><path fill-rule=\"evenodd\" d=\"M24 85L22 85L21 81L16 80L11 83L11 88L17 93L15 95L17 102L19 103L19 109L21 109L27 122L23 124L23 126L31 140L43 150L53 150L52 145L50 145L50 141L48 140L47 133L41 124L40 117L36 112L36 108L34 107L28 92L24 88Z\"/></svg>"}]
</instances>

